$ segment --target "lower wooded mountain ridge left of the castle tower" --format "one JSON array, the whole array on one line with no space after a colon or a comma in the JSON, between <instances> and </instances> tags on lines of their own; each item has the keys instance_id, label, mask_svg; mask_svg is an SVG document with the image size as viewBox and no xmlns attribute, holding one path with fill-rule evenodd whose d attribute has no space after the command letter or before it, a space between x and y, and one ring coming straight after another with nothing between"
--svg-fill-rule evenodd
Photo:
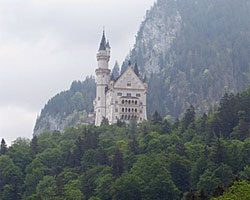
<instances>
[{"instance_id":1,"label":"lower wooded mountain ridge left of the castle tower","mask_svg":"<svg viewBox=\"0 0 250 200\"><path fill-rule=\"evenodd\" d=\"M89 113L93 112L95 93L95 79L92 76L83 82L74 81L69 90L57 94L44 106L36 120L34 135L92 123L94 119Z\"/></svg>"}]
</instances>

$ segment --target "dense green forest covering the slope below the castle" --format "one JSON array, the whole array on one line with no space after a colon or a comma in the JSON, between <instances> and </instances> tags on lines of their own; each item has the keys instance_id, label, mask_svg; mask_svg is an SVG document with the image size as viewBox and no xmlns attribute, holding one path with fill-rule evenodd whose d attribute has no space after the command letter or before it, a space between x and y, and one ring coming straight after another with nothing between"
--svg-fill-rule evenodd
<instances>
[{"instance_id":1,"label":"dense green forest covering the slope below the castle","mask_svg":"<svg viewBox=\"0 0 250 200\"><path fill-rule=\"evenodd\" d=\"M170 122L156 111L119 121L18 138L0 148L0 199L248 199L250 88L214 111L190 106Z\"/></svg>"}]
</instances>

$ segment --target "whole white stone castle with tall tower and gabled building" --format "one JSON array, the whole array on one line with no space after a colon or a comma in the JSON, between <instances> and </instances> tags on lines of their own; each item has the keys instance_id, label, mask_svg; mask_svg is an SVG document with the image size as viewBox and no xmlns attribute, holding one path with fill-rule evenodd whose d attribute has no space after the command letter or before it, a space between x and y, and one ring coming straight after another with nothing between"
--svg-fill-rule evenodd
<instances>
[{"instance_id":1,"label":"whole white stone castle with tall tower and gabled building","mask_svg":"<svg viewBox=\"0 0 250 200\"><path fill-rule=\"evenodd\" d=\"M147 84L140 80L131 64L116 80L109 69L110 45L105 33L97 53L96 99L94 100L95 125L100 126L103 119L109 124L118 120L129 122L147 120Z\"/></svg>"}]
</instances>

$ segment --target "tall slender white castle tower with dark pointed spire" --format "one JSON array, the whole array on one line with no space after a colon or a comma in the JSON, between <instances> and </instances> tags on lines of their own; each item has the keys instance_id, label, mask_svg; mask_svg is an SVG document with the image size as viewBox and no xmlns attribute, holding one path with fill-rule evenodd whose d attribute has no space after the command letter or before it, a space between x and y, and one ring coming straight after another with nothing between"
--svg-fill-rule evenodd
<instances>
[{"instance_id":1,"label":"tall slender white castle tower with dark pointed spire","mask_svg":"<svg viewBox=\"0 0 250 200\"><path fill-rule=\"evenodd\" d=\"M98 68L96 69L96 101L95 101L95 125L100 126L103 118L106 118L106 92L110 82L110 46L106 43L105 32L103 31L99 51L97 53Z\"/></svg>"}]
</instances>

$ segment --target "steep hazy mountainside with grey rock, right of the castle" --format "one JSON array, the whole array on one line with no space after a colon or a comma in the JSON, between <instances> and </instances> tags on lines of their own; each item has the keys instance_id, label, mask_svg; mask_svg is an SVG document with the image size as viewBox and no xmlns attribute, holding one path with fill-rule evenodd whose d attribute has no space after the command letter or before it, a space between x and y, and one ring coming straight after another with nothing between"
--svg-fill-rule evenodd
<instances>
[{"instance_id":1,"label":"steep hazy mountainside with grey rock, right of the castle","mask_svg":"<svg viewBox=\"0 0 250 200\"><path fill-rule=\"evenodd\" d=\"M248 0L158 0L128 57L147 74L148 113L178 117L190 104L202 113L246 88L249 19Z\"/></svg>"}]
</instances>

